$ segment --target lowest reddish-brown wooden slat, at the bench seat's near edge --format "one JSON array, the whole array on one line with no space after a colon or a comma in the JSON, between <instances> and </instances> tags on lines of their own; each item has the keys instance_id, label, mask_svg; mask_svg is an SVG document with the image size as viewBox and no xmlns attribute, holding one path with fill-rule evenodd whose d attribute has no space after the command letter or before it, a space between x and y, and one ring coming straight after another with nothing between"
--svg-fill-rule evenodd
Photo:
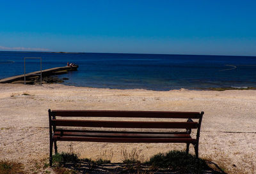
<instances>
[{"instance_id":1,"label":"lowest reddish-brown wooden slat, at the bench seat's near edge","mask_svg":"<svg viewBox=\"0 0 256 174\"><path fill-rule=\"evenodd\" d=\"M102 138L102 137L76 137L53 136L53 140L59 141L93 141L112 143L195 143L193 138Z\"/></svg>"}]
</instances>

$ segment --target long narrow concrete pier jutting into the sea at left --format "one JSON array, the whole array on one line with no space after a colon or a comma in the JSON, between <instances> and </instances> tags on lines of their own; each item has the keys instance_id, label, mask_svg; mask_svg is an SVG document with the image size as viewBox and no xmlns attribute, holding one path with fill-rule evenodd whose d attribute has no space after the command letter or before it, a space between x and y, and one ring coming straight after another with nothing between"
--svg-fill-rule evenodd
<instances>
[{"instance_id":1,"label":"long narrow concrete pier jutting into the sea at left","mask_svg":"<svg viewBox=\"0 0 256 174\"><path fill-rule=\"evenodd\" d=\"M70 66L64 66L64 67L56 67L56 68L50 68L42 70L42 76L51 76L56 75L60 73L65 73L67 71L74 71L77 67L70 67ZM35 76L40 76L41 71L35 71L26 74L26 79L33 78ZM8 78L3 78L0 80L0 83L12 83L15 81L24 80L24 74L23 75L17 75L17 76L11 76Z\"/></svg>"}]
</instances>

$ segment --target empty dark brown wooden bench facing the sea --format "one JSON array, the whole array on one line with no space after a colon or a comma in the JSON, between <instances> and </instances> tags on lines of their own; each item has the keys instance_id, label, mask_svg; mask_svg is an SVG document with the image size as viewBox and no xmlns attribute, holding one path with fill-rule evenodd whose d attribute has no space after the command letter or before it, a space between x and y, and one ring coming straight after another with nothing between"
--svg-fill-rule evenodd
<instances>
[{"instance_id":1,"label":"empty dark brown wooden bench facing the sea","mask_svg":"<svg viewBox=\"0 0 256 174\"><path fill-rule=\"evenodd\" d=\"M50 166L52 166L53 144L55 154L57 153L57 141L95 141L111 143L186 143L186 152L189 152L189 144L192 144L195 148L195 155L198 158L200 126L204 112L111 110L48 110L48 112L50 131ZM74 119L74 117L79 117L80 119L77 120L77 118ZM81 119L82 117L83 120ZM86 117L87 120L84 120ZM91 118L88 119L88 117ZM94 119L94 117L122 117L126 120L97 120ZM134 121L131 118L147 118L151 120L156 120L152 118L162 120L172 119L172 122L159 120ZM179 119L179 121L177 121L177 119ZM180 121L180 119L183 120ZM197 122L194 122L192 119L197 119ZM86 127L86 129L81 129L81 127ZM97 129L92 129L92 127L97 127ZM108 130L106 130L106 128L105 130L102 130L102 127L108 127ZM110 127L111 130L109 130ZM118 130L120 128L123 130ZM143 129L140 129L140 131L134 131L134 128ZM154 129L161 130L152 131ZM173 129L175 129L175 131L173 131ZM191 129L197 129L195 138L191 137Z\"/></svg>"}]
</instances>

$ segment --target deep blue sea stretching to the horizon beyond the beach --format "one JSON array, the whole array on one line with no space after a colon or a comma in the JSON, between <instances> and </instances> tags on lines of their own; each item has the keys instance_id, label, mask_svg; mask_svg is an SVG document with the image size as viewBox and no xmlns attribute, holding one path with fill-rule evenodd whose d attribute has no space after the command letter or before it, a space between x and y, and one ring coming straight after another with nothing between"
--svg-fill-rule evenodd
<instances>
[{"instance_id":1,"label":"deep blue sea stretching to the horizon beyond the beach","mask_svg":"<svg viewBox=\"0 0 256 174\"><path fill-rule=\"evenodd\" d=\"M79 65L63 84L110 89L209 89L256 87L256 57L220 55L0 52L0 78L24 73L24 57L42 57L42 69ZM40 70L26 60L26 72Z\"/></svg>"}]
</instances>

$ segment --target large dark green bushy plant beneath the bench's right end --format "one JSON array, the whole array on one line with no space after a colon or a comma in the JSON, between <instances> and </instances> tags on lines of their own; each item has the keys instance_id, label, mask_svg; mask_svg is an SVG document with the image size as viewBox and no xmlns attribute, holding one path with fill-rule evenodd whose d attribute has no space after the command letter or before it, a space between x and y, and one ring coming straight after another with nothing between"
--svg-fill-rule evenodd
<instances>
[{"instance_id":1,"label":"large dark green bushy plant beneath the bench's right end","mask_svg":"<svg viewBox=\"0 0 256 174\"><path fill-rule=\"evenodd\" d=\"M178 150L156 154L146 163L155 169L170 168L180 173L198 173L198 171L209 169L209 166L203 159L198 161L195 156Z\"/></svg>"}]
</instances>

